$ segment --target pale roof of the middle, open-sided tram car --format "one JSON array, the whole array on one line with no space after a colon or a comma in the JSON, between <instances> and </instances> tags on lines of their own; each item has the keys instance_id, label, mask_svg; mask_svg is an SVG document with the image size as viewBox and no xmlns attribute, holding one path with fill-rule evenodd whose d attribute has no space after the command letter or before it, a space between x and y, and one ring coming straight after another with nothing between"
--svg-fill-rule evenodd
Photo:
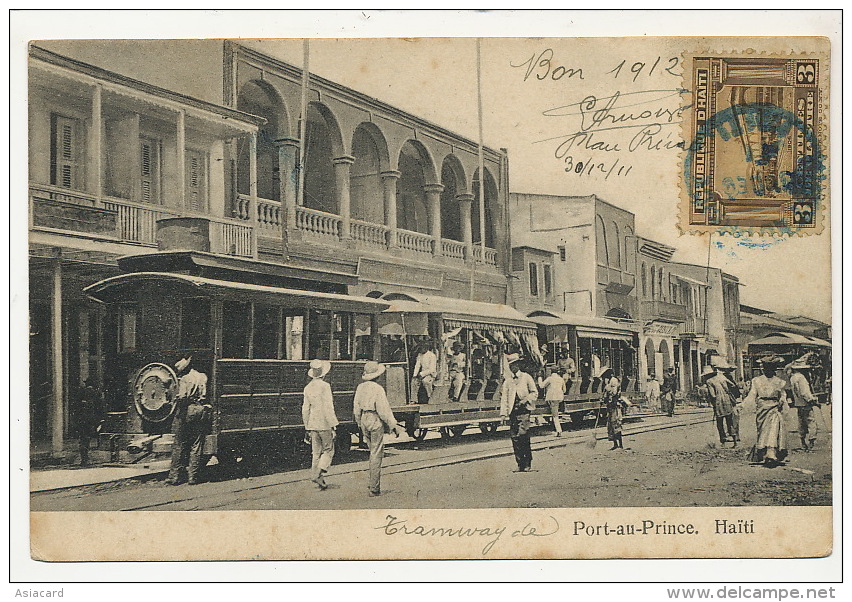
<instances>
[{"instance_id":1,"label":"pale roof of the middle, open-sided tram car","mask_svg":"<svg viewBox=\"0 0 852 602\"><path fill-rule=\"evenodd\" d=\"M444 318L488 327L490 325L513 326L520 329L535 329L535 323L525 318L514 307L502 303L486 303L452 297L406 294L404 299L387 300L392 313L434 313Z\"/></svg>"}]
</instances>

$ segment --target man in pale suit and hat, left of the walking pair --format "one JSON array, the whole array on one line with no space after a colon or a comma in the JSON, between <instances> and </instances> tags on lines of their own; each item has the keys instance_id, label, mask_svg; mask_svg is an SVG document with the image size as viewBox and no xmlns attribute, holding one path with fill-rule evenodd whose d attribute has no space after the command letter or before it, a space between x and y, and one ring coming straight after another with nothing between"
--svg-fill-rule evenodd
<instances>
[{"instance_id":1,"label":"man in pale suit and hat, left of the walking pair","mask_svg":"<svg viewBox=\"0 0 852 602\"><path fill-rule=\"evenodd\" d=\"M311 438L311 481L321 490L328 489L325 474L334 458L334 436L338 424L331 385L323 380L329 370L331 362L328 360L311 360L308 370L311 382L305 387L302 403L302 423Z\"/></svg>"}]
</instances>

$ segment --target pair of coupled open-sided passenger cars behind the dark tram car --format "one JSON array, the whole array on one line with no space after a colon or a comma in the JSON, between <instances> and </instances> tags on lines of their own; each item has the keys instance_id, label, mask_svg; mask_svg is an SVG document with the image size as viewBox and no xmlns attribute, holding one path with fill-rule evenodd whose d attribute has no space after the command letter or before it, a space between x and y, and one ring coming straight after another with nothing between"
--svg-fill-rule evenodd
<instances>
[{"instance_id":1,"label":"pair of coupled open-sided passenger cars behind the dark tram car","mask_svg":"<svg viewBox=\"0 0 852 602\"><path fill-rule=\"evenodd\" d=\"M508 359L513 355L524 358L533 376L545 366L555 367L563 352L574 359L577 377L560 409L572 422L605 412L597 378L602 366L620 375L625 395L635 394L638 336L612 320L550 312L524 316L506 305L445 297L391 293L381 298L391 303L379 318L383 360L402 359L413 371L418 346L425 341L437 347L438 375L431 396L423 395L416 380L409 393L410 403L419 405L417 427L408 431L415 439L423 439L430 429L445 438L470 427L496 431L510 410L505 383L511 378ZM458 396L452 394L450 378L456 349L465 355ZM550 419L543 398L535 414Z\"/></svg>"}]
</instances>

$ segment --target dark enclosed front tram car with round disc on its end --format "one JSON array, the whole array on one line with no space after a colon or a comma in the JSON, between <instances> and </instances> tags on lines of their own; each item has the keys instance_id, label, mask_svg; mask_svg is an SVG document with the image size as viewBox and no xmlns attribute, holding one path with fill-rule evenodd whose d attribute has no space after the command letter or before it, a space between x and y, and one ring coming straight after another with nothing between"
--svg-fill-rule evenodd
<instances>
[{"instance_id":1,"label":"dark enclosed front tram car with round disc on its end","mask_svg":"<svg viewBox=\"0 0 852 602\"><path fill-rule=\"evenodd\" d=\"M170 366L183 357L208 376L213 425L204 452L220 463L273 458L301 446L302 390L314 358L332 363L326 379L341 422L338 442L348 448L357 431L355 387L364 363L378 359L377 320L387 302L144 271L107 278L86 293L106 305L112 326L104 350L109 413L101 432L111 449L138 453L158 436L169 437ZM387 365L380 382L394 414L407 429L416 428L405 363Z\"/></svg>"}]
</instances>

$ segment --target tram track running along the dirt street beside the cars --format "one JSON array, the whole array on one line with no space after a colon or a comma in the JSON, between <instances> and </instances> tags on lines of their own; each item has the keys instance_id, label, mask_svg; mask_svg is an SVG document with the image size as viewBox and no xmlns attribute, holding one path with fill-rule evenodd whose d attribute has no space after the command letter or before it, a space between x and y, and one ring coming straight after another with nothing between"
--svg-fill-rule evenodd
<instances>
[{"instance_id":1,"label":"tram track running along the dirt street beside the cars","mask_svg":"<svg viewBox=\"0 0 852 602\"><path fill-rule=\"evenodd\" d=\"M693 412L689 414L680 414L679 418L665 420L664 422L655 422L654 424L629 424L624 425L625 436L644 435L667 429L681 428L692 426L695 424L707 423L713 421L712 413L708 412ZM663 419L663 417L659 417ZM555 437L549 435L544 439L539 439L533 442L533 449L541 451L545 449L555 449L567 447L569 445L578 445L590 443L589 431L591 429L583 429L578 431L566 431L563 437ZM598 429L600 431L600 428ZM606 439L605 432L596 432L596 440L603 441ZM473 448L473 449L472 449ZM511 444L503 440L490 440L485 442L477 442L465 446L459 445L453 447L439 448L440 455L431 457L418 458L398 458L386 457L385 465L382 470L383 475L393 475L406 472L414 472L418 470L428 470L430 468L439 468L451 464L462 464L466 462L475 462L490 458L503 456L511 456ZM429 451L418 451L417 453L429 454ZM438 450L435 450L438 451ZM352 464L340 464L334 467L334 475L349 475L367 471L367 463L358 461ZM275 477L270 479L270 477ZM286 485L305 482L308 480L307 470L296 470L288 473L278 473L275 475L265 475L258 477L263 482L255 480L252 484L246 484L233 488L232 486L224 490L219 488L210 488L212 484L203 484L198 487L186 489L192 495L170 498L168 500L152 501L148 503L126 504L118 510L121 511L144 511L144 510L216 510L227 507L233 504L234 495L240 495L242 500L250 499L252 501L262 500L264 498L272 498L280 495L280 491L275 491L274 488L279 488ZM233 485L233 481L229 482ZM205 488L208 491L205 491ZM182 492L182 491L181 491ZM217 499L221 498L221 499Z\"/></svg>"}]
</instances>

